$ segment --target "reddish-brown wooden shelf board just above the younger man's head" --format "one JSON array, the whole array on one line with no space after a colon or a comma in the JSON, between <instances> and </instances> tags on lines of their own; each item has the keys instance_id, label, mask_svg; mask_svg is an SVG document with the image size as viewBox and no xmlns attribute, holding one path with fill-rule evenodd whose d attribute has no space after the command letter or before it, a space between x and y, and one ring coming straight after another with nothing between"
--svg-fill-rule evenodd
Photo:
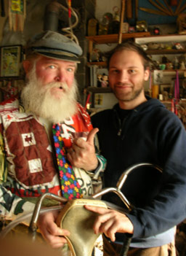
<instances>
[{"instance_id":1,"label":"reddish-brown wooden shelf board just above the younger man's head","mask_svg":"<svg viewBox=\"0 0 186 256\"><path fill-rule=\"evenodd\" d=\"M139 32L139 33L123 33L122 40L126 40L134 37L150 36L150 32ZM95 44L113 44L118 42L118 34L108 34L100 36L86 36L86 39L94 42Z\"/></svg>"}]
</instances>

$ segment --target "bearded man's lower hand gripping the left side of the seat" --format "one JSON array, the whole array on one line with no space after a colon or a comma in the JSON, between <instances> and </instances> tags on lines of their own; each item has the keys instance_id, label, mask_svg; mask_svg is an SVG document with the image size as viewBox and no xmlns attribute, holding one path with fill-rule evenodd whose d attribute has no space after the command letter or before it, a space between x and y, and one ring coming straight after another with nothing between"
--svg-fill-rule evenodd
<instances>
[{"instance_id":1,"label":"bearded man's lower hand gripping the left side of the seat","mask_svg":"<svg viewBox=\"0 0 186 256\"><path fill-rule=\"evenodd\" d=\"M67 243L63 236L69 236L68 230L57 227L55 220L59 211L46 212L39 216L37 225L44 239L52 248L60 248Z\"/></svg>"}]
</instances>

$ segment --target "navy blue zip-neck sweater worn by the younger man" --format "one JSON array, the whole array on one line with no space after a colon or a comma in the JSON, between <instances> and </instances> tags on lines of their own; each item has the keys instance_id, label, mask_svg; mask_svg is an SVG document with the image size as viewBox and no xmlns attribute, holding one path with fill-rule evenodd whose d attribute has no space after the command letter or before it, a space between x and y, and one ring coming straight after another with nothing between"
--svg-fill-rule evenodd
<instances>
[{"instance_id":1,"label":"navy blue zip-neck sweater worn by the younger man","mask_svg":"<svg viewBox=\"0 0 186 256\"><path fill-rule=\"evenodd\" d=\"M163 169L161 174L153 168L138 168L129 174L122 188L135 206L127 215L134 225L134 244L144 241L139 247L169 242L166 231L186 218L185 128L160 101L147 99L129 111L122 122L118 104L92 116L94 128L99 128L101 154L108 161L105 187L116 187L123 171L137 163L153 163ZM116 194L109 193L104 199L124 206ZM152 236L164 232L160 241L153 241ZM121 234L116 237L123 241ZM145 244L148 239L150 243Z\"/></svg>"}]
</instances>

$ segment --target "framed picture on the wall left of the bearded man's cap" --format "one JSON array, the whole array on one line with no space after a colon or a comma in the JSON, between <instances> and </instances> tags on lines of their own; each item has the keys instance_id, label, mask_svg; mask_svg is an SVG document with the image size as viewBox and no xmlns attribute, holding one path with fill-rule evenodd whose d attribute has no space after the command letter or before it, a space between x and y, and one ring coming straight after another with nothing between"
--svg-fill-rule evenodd
<instances>
[{"instance_id":1,"label":"framed picture on the wall left of the bearded man's cap","mask_svg":"<svg viewBox=\"0 0 186 256\"><path fill-rule=\"evenodd\" d=\"M21 50L21 45L1 47L0 77L20 76Z\"/></svg>"}]
</instances>

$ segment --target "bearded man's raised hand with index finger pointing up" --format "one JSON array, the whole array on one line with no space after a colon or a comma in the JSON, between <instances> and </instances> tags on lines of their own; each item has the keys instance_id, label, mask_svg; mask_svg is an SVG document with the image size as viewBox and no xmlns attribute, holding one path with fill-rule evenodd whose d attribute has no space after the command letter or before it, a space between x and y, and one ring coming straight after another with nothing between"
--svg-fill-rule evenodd
<instances>
[{"instance_id":1,"label":"bearded man's raised hand with index finger pointing up","mask_svg":"<svg viewBox=\"0 0 186 256\"><path fill-rule=\"evenodd\" d=\"M94 148L94 136L97 131L99 131L98 128L92 129L86 141L82 138L74 139L73 145L67 154L72 166L84 168L86 171L92 171L97 168L98 160Z\"/></svg>"}]
</instances>

